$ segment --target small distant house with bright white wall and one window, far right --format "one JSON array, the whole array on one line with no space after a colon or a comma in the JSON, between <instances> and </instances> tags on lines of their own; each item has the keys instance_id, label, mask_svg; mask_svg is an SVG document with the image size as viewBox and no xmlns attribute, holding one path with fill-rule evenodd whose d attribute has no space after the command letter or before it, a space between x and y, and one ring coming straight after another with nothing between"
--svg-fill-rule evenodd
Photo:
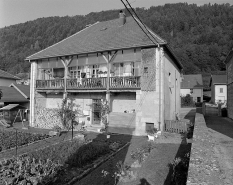
<instances>
[{"instance_id":1,"label":"small distant house with bright white wall and one window, far right","mask_svg":"<svg viewBox=\"0 0 233 185\"><path fill-rule=\"evenodd\" d=\"M211 75L211 102L224 103L227 101L227 76Z\"/></svg>"}]
</instances>

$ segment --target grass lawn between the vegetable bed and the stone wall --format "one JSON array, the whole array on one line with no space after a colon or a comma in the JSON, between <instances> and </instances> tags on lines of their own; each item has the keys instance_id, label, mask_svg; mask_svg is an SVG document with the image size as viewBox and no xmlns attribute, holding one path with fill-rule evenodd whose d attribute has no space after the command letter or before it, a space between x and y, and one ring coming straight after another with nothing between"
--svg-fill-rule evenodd
<instances>
[{"instance_id":1,"label":"grass lawn between the vegetable bed and the stone wall","mask_svg":"<svg viewBox=\"0 0 233 185\"><path fill-rule=\"evenodd\" d=\"M131 165L134 162L130 156L131 151L146 145L148 145L146 137L132 137L129 147L120 151L116 156L96 168L75 185L114 185L115 180L113 176L117 171L117 162L122 161L124 164ZM183 157L191 149L190 144L180 143L153 143L152 147L154 149L142 163L142 167L131 168L134 172L137 171L136 180L128 183L118 182L118 185L169 185L172 177L172 168L169 164L176 157ZM103 170L109 172L105 177L102 173Z\"/></svg>"}]
</instances>

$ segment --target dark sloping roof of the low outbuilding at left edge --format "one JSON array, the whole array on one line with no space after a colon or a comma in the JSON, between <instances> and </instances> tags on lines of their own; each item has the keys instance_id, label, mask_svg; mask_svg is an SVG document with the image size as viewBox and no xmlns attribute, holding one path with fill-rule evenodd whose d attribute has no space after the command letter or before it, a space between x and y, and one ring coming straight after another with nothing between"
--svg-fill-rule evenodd
<instances>
[{"instance_id":1,"label":"dark sloping roof of the low outbuilding at left edge","mask_svg":"<svg viewBox=\"0 0 233 185\"><path fill-rule=\"evenodd\" d=\"M17 89L14 87L0 86L2 90L2 98L0 102L28 102L29 100L25 98Z\"/></svg>"}]
</instances>

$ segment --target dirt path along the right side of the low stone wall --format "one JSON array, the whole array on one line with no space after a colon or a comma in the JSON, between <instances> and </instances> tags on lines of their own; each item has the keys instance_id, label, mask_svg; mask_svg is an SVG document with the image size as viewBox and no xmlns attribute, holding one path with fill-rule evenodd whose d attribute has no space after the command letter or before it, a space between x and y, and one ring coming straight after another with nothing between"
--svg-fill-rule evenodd
<instances>
[{"instance_id":1,"label":"dirt path along the right side of the low stone wall","mask_svg":"<svg viewBox=\"0 0 233 185\"><path fill-rule=\"evenodd\" d=\"M214 152L223 171L224 184L233 184L233 121L214 115L205 116L205 121L215 141Z\"/></svg>"}]
</instances>

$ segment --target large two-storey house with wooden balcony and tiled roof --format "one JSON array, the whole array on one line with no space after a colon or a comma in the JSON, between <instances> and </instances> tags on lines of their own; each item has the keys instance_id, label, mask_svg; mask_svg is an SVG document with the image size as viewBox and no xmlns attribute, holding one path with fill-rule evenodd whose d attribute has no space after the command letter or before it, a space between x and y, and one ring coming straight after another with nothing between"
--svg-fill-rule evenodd
<instances>
[{"instance_id":1,"label":"large two-storey house with wooden balcony and tiled roof","mask_svg":"<svg viewBox=\"0 0 233 185\"><path fill-rule=\"evenodd\" d=\"M180 109L182 65L167 42L135 17L88 25L26 58L31 63L30 126L52 128L64 97L79 105L88 128L101 128L99 103L107 100L109 125L164 129ZM166 110L166 111L165 111Z\"/></svg>"}]
</instances>

